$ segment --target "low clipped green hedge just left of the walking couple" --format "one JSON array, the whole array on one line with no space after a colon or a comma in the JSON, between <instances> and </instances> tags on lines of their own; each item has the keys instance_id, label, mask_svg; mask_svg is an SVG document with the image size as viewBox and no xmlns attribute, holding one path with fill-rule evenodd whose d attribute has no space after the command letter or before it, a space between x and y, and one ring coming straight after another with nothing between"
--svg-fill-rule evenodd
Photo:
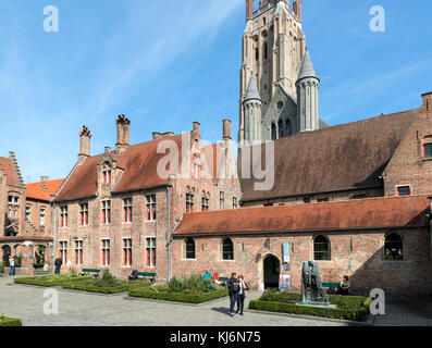
<instances>
[{"instance_id":1,"label":"low clipped green hedge just left of the walking couple","mask_svg":"<svg viewBox=\"0 0 432 348\"><path fill-rule=\"evenodd\" d=\"M129 289L131 297L149 298L155 300L165 300L174 302L186 302L186 303L203 303L217 298L225 297L229 295L227 289L215 290L203 294L182 294L182 293L164 293L164 291L151 291L147 289Z\"/></svg>"}]
</instances>

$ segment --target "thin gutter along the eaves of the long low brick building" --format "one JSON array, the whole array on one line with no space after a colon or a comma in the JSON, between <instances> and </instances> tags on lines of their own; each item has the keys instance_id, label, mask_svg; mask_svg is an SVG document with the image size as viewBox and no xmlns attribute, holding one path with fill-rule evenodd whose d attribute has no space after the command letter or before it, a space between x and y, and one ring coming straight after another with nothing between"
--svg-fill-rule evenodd
<instances>
[{"instance_id":1,"label":"thin gutter along the eaves of the long low brick building","mask_svg":"<svg viewBox=\"0 0 432 348\"><path fill-rule=\"evenodd\" d=\"M173 234L173 238L183 238L183 237L211 237L211 236L226 236L226 235L275 235L282 233L317 233L317 232L344 232L344 231L377 231L377 229L397 229L397 228L425 228L429 227L429 224L420 224L420 225L391 225L391 226L372 226L372 227L338 227L338 228L310 228L310 229L281 229L281 231L259 231L259 232L215 232L215 233L183 233L183 234Z\"/></svg>"}]
</instances>

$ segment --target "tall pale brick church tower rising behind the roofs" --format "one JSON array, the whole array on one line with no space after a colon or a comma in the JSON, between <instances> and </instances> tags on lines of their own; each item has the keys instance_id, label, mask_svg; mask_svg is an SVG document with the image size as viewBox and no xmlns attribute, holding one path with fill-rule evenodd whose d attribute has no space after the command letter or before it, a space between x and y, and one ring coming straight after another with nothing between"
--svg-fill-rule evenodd
<instances>
[{"instance_id":1,"label":"tall pale brick church tower rising behind the roofs","mask_svg":"<svg viewBox=\"0 0 432 348\"><path fill-rule=\"evenodd\" d=\"M294 104L297 100L296 82L305 55L306 37L301 29L301 1L295 0L293 7L291 1L260 0L259 9L254 11L255 0L246 0L239 92L239 141L245 139L244 101L252 72L262 104L262 117L267 117L268 110L273 111L273 107L276 112L277 103L281 105L281 101L275 100L279 89L283 89L286 98L294 100ZM291 103L291 100L284 104ZM289 108L293 109L292 105ZM296 110L289 110L289 113L293 113L293 116L289 114L284 121L295 123L291 119L296 117ZM287 129L286 125L284 127ZM293 127L297 129L297 125ZM270 139L271 124L262 123L261 128L261 140Z\"/></svg>"}]
</instances>

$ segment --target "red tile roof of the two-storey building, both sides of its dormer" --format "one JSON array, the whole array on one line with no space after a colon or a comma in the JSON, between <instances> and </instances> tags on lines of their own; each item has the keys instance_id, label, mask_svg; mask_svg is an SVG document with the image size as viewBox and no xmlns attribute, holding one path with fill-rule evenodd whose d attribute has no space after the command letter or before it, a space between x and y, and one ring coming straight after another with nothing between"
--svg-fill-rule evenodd
<instances>
[{"instance_id":1,"label":"red tile roof of the two-storey building, both sides of its dormer","mask_svg":"<svg viewBox=\"0 0 432 348\"><path fill-rule=\"evenodd\" d=\"M158 146L163 140L173 140L178 148L178 163L182 156L182 135L173 135L164 139L156 139L147 142L132 145L124 151L116 154L111 152L118 166L123 169L118 183L114 185L113 192L147 188L166 185L169 178L158 175L158 163L165 153L158 153ZM60 189L55 201L71 200L82 197L95 196L98 189L98 164L103 154L89 157L71 173L64 186ZM176 169L166 169L171 174L176 174Z\"/></svg>"}]
</instances>

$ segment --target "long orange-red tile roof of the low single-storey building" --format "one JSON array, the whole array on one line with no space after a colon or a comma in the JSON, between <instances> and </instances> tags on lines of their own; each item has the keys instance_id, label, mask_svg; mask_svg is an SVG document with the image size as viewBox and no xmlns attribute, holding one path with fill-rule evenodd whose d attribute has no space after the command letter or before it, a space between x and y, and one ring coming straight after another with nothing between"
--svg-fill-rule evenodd
<instances>
[{"instance_id":1,"label":"long orange-red tile roof of the low single-storey building","mask_svg":"<svg viewBox=\"0 0 432 348\"><path fill-rule=\"evenodd\" d=\"M174 235L351 229L428 225L428 196L186 213Z\"/></svg>"}]
</instances>

